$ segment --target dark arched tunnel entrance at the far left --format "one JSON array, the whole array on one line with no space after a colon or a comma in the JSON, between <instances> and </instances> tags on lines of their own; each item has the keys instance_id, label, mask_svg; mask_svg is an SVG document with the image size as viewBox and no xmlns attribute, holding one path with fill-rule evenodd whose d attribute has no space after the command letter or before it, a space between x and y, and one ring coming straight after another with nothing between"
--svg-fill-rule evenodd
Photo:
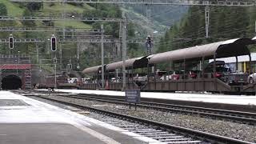
<instances>
[{"instance_id":1,"label":"dark arched tunnel entrance at the far left","mask_svg":"<svg viewBox=\"0 0 256 144\"><path fill-rule=\"evenodd\" d=\"M22 79L17 75L7 75L2 78L2 90L18 90L22 88Z\"/></svg>"}]
</instances>

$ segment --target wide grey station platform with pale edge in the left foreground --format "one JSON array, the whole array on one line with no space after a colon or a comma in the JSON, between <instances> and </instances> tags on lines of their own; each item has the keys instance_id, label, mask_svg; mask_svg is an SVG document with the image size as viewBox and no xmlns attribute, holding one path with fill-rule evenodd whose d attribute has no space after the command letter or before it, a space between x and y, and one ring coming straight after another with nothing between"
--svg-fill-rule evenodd
<instances>
[{"instance_id":1,"label":"wide grey station platform with pale edge in the left foreground","mask_svg":"<svg viewBox=\"0 0 256 144\"><path fill-rule=\"evenodd\" d=\"M158 143L94 118L0 91L0 144Z\"/></svg>"}]
</instances>

